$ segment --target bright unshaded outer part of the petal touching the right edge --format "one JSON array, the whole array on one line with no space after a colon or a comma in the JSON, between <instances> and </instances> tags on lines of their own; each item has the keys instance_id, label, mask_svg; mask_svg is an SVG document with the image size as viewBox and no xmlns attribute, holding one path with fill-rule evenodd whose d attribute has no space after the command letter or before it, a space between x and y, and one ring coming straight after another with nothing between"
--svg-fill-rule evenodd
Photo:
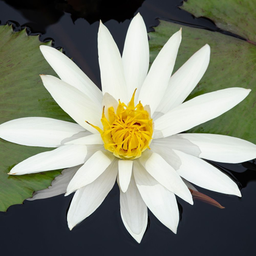
<instances>
[{"instance_id":1,"label":"bright unshaded outer part of the petal touching the right edge","mask_svg":"<svg viewBox=\"0 0 256 256\"><path fill-rule=\"evenodd\" d=\"M240 138L204 133L182 133L177 137L198 146L200 158L221 163L241 163L256 158L256 145Z\"/></svg>"}]
</instances>

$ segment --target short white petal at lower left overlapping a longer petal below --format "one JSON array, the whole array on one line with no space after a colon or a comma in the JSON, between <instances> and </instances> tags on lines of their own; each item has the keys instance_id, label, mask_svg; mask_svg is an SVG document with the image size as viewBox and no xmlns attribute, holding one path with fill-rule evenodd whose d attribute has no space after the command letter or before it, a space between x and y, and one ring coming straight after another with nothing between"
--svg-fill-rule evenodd
<instances>
[{"instance_id":1,"label":"short white petal at lower left overlapping a longer petal below","mask_svg":"<svg viewBox=\"0 0 256 256\"><path fill-rule=\"evenodd\" d=\"M105 169L108 168L114 159L113 154L107 151L97 151L91 158L76 172L71 182L68 184L65 196L73 193L79 188L85 187L96 180Z\"/></svg>"}]
</instances>

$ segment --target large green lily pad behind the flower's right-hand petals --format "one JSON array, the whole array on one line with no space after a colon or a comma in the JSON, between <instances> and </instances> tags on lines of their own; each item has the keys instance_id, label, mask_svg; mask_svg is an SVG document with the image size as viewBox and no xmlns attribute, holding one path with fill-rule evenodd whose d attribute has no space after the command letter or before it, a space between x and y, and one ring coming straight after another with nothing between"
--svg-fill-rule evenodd
<instances>
[{"instance_id":1,"label":"large green lily pad behind the flower's right-hand petals","mask_svg":"<svg viewBox=\"0 0 256 256\"><path fill-rule=\"evenodd\" d=\"M188 132L230 135L256 144L256 46L219 32L160 21L155 32L149 33L151 62L180 27L182 43L174 72L206 43L211 47L210 65L188 99L229 87L252 89L249 96L232 110Z\"/></svg>"}]
</instances>

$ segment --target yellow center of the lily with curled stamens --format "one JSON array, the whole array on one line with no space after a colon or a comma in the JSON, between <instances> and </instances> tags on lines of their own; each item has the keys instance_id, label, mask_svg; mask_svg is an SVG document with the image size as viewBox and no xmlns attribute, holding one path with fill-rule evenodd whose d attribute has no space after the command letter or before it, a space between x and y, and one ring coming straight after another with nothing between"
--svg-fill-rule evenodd
<instances>
[{"instance_id":1,"label":"yellow center of the lily with curled stamens","mask_svg":"<svg viewBox=\"0 0 256 256\"><path fill-rule=\"evenodd\" d=\"M129 160L140 157L149 149L154 130L153 120L141 102L134 105L135 91L128 105L119 101L116 113L113 107L108 108L108 118L103 107L103 130L91 124L101 133L105 149L113 152L115 157Z\"/></svg>"}]
</instances>

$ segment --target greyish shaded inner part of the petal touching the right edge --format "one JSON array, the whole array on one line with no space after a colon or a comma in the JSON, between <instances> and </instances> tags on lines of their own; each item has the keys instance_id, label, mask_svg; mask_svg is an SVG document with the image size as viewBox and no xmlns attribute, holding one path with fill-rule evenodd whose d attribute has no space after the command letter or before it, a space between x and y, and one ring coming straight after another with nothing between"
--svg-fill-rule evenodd
<instances>
[{"instance_id":1,"label":"greyish shaded inner part of the petal touching the right edge","mask_svg":"<svg viewBox=\"0 0 256 256\"><path fill-rule=\"evenodd\" d=\"M151 146L153 146L154 149L157 148L158 150L162 150L166 152L169 152L169 150L171 149L177 149L186 154L199 157L199 155L201 154L201 150L199 149L199 146L182 137L183 134L187 134L187 133L180 133L180 134L172 135L166 138L152 140Z\"/></svg>"}]
</instances>

